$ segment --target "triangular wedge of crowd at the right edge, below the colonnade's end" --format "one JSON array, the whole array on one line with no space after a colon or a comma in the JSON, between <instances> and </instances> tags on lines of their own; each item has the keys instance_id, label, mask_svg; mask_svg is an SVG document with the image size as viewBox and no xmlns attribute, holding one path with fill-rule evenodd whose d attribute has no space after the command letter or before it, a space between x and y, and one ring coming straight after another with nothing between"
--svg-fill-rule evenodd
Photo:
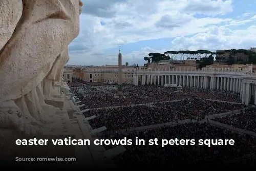
<instances>
[{"instance_id":1,"label":"triangular wedge of crowd at the right edge, below the colonnade's end","mask_svg":"<svg viewBox=\"0 0 256 171\"><path fill-rule=\"evenodd\" d=\"M227 115L213 119L239 129L256 132L256 110L248 109L240 114Z\"/></svg>"}]
</instances>

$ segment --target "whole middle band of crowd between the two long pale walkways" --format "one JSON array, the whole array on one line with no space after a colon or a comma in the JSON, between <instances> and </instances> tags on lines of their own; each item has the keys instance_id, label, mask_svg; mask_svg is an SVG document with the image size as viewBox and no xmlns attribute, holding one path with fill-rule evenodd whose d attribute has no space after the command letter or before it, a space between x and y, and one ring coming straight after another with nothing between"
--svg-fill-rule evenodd
<instances>
[{"instance_id":1,"label":"whole middle band of crowd between the two long pale walkways","mask_svg":"<svg viewBox=\"0 0 256 171\"><path fill-rule=\"evenodd\" d=\"M108 131L117 131L131 129L132 127L190 119L191 117L203 119L206 115L225 113L243 108L243 104L191 98L152 105L93 109L83 114L86 117L97 116L95 119L90 120L90 125L93 129L106 126Z\"/></svg>"}]
</instances>

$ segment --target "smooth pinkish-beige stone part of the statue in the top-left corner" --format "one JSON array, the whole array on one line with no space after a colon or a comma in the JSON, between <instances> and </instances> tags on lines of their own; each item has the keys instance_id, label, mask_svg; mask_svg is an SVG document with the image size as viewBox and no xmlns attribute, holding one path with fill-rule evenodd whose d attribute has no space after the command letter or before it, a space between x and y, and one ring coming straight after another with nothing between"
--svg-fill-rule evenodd
<instances>
[{"instance_id":1,"label":"smooth pinkish-beige stone part of the statue in the top-left corner","mask_svg":"<svg viewBox=\"0 0 256 171\"><path fill-rule=\"evenodd\" d=\"M0 53L11 38L23 12L22 0L0 1Z\"/></svg>"}]
</instances>

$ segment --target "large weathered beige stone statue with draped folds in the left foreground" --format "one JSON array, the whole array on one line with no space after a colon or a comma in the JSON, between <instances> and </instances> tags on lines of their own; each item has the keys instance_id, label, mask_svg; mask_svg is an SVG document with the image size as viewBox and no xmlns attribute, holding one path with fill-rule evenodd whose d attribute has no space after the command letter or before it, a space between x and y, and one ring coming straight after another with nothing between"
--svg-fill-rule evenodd
<instances>
[{"instance_id":1,"label":"large weathered beige stone statue with draped folds in the left foreground","mask_svg":"<svg viewBox=\"0 0 256 171\"><path fill-rule=\"evenodd\" d=\"M0 128L38 134L56 109L68 45L79 33L79 0L0 1Z\"/></svg>"}]
</instances>

